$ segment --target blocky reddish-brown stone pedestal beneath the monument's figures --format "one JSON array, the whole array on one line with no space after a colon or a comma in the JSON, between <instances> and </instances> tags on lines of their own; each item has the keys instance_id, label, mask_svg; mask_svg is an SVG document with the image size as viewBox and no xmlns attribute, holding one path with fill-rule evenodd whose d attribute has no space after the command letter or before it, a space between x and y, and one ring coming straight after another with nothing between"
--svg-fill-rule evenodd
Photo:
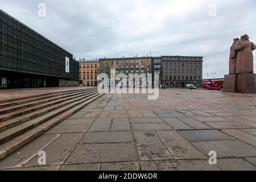
<instances>
[{"instance_id":1,"label":"blocky reddish-brown stone pedestal beneath the monument's figures","mask_svg":"<svg viewBox=\"0 0 256 182\"><path fill-rule=\"evenodd\" d=\"M256 75L254 73L240 73L225 75L224 92L256 93Z\"/></svg>"}]
</instances>

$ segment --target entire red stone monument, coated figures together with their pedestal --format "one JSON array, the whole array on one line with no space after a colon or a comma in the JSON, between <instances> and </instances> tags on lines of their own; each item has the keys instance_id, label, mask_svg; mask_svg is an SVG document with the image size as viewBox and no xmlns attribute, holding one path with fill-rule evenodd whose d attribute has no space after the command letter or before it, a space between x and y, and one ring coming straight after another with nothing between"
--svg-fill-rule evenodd
<instances>
[{"instance_id":1,"label":"entire red stone monument, coated figures together with their pedestal","mask_svg":"<svg viewBox=\"0 0 256 182\"><path fill-rule=\"evenodd\" d=\"M234 39L230 48L229 75L225 75L223 92L256 93L256 75L253 73L254 43L247 34Z\"/></svg>"}]
</instances>

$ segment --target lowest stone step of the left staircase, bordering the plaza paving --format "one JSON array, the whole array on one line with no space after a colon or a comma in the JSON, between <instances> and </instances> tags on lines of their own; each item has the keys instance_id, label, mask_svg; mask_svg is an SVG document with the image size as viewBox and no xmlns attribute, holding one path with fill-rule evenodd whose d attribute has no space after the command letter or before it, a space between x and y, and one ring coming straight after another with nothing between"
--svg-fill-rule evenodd
<instances>
[{"instance_id":1,"label":"lowest stone step of the left staircase, bordering the plaza paving","mask_svg":"<svg viewBox=\"0 0 256 182\"><path fill-rule=\"evenodd\" d=\"M43 134L45 131L51 129L51 127L57 125L64 119L67 119L68 117L70 117L72 114L75 114L77 111L79 111L86 105L90 104L97 98L100 98L104 94L105 94L104 92L98 93L97 96L94 96L94 97L90 98L89 100L82 102L81 104L72 106L71 109L64 111L61 115L59 115L55 118L49 119L48 121L42 123L41 125L38 125L38 126L34 127L33 129L28 130L25 133L20 134L17 137L1 144L0 145L0 159L5 158L7 155L11 154L11 152L18 150L18 148L22 147L24 144L30 142L32 139Z\"/></svg>"}]
</instances>

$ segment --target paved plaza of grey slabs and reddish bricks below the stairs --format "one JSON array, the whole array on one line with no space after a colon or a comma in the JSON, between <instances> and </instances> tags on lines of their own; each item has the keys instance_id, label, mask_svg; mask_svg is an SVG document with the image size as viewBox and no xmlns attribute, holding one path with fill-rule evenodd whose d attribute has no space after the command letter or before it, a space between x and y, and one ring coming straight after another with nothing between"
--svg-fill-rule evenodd
<instances>
[{"instance_id":1,"label":"paved plaza of grey slabs and reddish bricks below the stairs","mask_svg":"<svg viewBox=\"0 0 256 182\"><path fill-rule=\"evenodd\" d=\"M0 161L15 170L256 170L256 96L106 94ZM40 150L47 166L38 164ZM217 165L208 162L217 152Z\"/></svg>"}]
</instances>

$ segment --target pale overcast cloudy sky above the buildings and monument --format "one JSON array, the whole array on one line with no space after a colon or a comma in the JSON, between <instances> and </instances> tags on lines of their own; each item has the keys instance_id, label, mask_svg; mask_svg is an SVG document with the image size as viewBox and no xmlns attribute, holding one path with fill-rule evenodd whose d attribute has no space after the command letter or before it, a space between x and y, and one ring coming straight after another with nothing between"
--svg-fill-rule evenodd
<instances>
[{"instance_id":1,"label":"pale overcast cloudy sky above the buildings and monument","mask_svg":"<svg viewBox=\"0 0 256 182\"><path fill-rule=\"evenodd\" d=\"M0 8L76 59L204 56L204 78L228 73L233 38L256 43L255 0L0 0Z\"/></svg>"}]
</instances>

